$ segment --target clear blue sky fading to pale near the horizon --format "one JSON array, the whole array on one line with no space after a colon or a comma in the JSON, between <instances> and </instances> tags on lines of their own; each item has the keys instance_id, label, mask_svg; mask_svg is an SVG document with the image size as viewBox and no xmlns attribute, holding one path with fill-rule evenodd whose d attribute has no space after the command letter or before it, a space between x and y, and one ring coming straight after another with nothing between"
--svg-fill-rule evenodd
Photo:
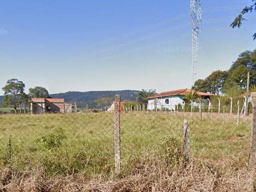
<instances>
[{"instance_id":1,"label":"clear blue sky fading to pale near the horizon","mask_svg":"<svg viewBox=\"0 0 256 192\"><path fill-rule=\"evenodd\" d=\"M251 0L202 0L197 78L254 50L256 14L230 23ZM190 88L190 1L0 2L0 87L18 78L50 93ZM3 91L0 90L0 94Z\"/></svg>"}]
</instances>

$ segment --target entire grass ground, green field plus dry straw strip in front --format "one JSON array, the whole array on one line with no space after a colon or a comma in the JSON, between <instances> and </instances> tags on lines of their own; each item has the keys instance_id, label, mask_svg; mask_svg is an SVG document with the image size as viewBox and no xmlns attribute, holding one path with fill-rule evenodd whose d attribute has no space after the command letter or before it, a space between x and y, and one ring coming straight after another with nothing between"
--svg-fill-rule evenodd
<instances>
[{"instance_id":1,"label":"entire grass ground, green field plus dry straw strip in front","mask_svg":"<svg viewBox=\"0 0 256 192\"><path fill-rule=\"evenodd\" d=\"M189 164L183 155L184 116L190 125ZM223 118L203 113L202 121L196 112L192 118L189 112L121 114L122 170L114 174L113 114L1 115L2 188L203 191L232 186L242 191L248 176L250 125L250 116L242 117L237 126L236 115L229 114ZM31 186L24 186L25 180Z\"/></svg>"}]
</instances>

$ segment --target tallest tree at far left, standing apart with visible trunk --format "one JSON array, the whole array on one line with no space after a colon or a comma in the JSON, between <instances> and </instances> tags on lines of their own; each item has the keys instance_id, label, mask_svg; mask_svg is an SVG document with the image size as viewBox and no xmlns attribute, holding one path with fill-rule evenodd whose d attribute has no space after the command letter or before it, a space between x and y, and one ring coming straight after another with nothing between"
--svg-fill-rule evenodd
<instances>
[{"instance_id":1,"label":"tallest tree at far left, standing apart with visible trunk","mask_svg":"<svg viewBox=\"0 0 256 192\"><path fill-rule=\"evenodd\" d=\"M4 90L3 106L11 106L18 113L18 106L28 102L28 95L25 93L25 84L18 79L10 79L6 82Z\"/></svg>"}]
</instances>

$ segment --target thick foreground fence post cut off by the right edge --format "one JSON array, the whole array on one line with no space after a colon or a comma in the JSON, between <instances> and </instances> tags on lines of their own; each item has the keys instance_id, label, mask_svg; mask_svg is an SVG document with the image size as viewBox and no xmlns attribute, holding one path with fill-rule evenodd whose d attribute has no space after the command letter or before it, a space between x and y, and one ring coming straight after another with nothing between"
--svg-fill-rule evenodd
<instances>
[{"instance_id":1,"label":"thick foreground fence post cut off by the right edge","mask_svg":"<svg viewBox=\"0 0 256 192\"><path fill-rule=\"evenodd\" d=\"M256 168L256 92L252 93L252 135L250 142L250 158L249 158L249 169L250 169L250 184L252 192L254 192L254 181L255 181L255 168Z\"/></svg>"}]
</instances>

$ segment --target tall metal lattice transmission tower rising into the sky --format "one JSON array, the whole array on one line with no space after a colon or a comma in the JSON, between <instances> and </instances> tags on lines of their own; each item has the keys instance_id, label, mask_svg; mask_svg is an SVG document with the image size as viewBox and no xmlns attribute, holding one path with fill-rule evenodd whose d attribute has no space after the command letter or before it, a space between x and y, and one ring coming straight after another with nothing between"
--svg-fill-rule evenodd
<instances>
[{"instance_id":1,"label":"tall metal lattice transmission tower rising into the sky","mask_svg":"<svg viewBox=\"0 0 256 192\"><path fill-rule=\"evenodd\" d=\"M192 23L192 85L194 85L198 56L198 36L201 32L202 23L202 3L200 0L190 0L190 15Z\"/></svg>"}]
</instances>

